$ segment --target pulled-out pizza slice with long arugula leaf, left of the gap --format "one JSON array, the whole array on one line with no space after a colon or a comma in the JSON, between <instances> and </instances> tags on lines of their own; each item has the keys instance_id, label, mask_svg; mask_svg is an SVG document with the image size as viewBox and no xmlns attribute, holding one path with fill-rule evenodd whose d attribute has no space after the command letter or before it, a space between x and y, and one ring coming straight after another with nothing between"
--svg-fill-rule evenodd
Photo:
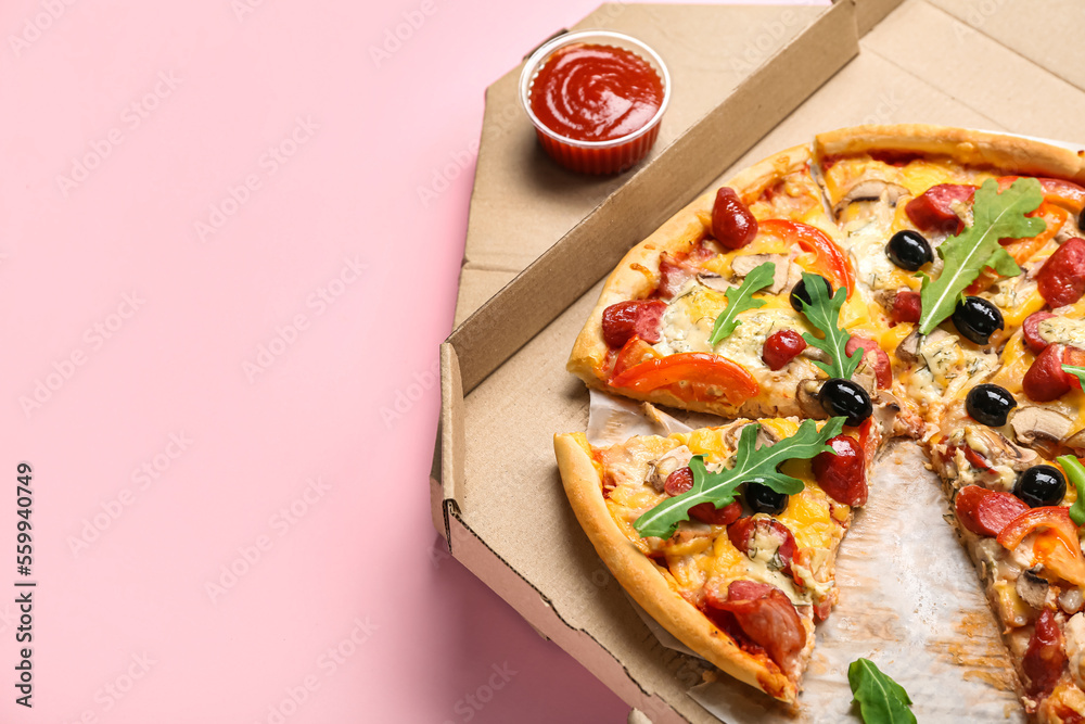
<instances>
[{"instance_id":1,"label":"pulled-out pizza slice with long arugula leaf, left of the gap","mask_svg":"<svg viewBox=\"0 0 1085 724\"><path fill-rule=\"evenodd\" d=\"M633 598L720 671L793 703L882 442L775 418L592 447L554 436L570 504Z\"/></svg>"}]
</instances>

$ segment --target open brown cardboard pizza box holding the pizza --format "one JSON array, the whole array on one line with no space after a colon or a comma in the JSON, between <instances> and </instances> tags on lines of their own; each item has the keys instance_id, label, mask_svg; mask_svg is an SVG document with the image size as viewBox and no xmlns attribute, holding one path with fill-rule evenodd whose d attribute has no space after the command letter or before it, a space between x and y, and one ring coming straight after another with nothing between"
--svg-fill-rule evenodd
<instances>
[{"instance_id":1,"label":"open brown cardboard pizza box holding the pizza","mask_svg":"<svg viewBox=\"0 0 1085 724\"><path fill-rule=\"evenodd\" d=\"M588 420L588 395L565 359L602 280L704 189L818 131L933 123L1085 143L1083 26L1077 0L602 5L573 29L643 40L674 81L655 148L612 177L546 157L519 104L519 67L487 89L458 326L441 350L434 525L454 557L628 702L630 720L719 717L689 694L703 666L638 615L558 477L553 433ZM540 28L540 42L550 30ZM1019 716L998 651L954 646L945 656L974 664L972 677L990 679L991 697ZM927 686L934 698L939 682ZM955 721L909 691L920 721ZM846 684L841 697L851 698Z\"/></svg>"}]
</instances>

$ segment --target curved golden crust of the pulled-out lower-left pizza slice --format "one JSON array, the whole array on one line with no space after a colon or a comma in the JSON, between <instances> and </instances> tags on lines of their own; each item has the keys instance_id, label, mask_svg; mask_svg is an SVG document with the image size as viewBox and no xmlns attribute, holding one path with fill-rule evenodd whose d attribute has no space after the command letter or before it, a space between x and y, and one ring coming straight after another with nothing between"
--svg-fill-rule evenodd
<instances>
[{"instance_id":1,"label":"curved golden crust of the pulled-out lower-left pizza slice","mask_svg":"<svg viewBox=\"0 0 1085 724\"><path fill-rule=\"evenodd\" d=\"M564 433L553 437L554 454L562 484L573 512L600 558L630 596L664 628L681 643L703 656L724 673L766 694L794 703L799 694L790 681L768 657L743 651L675 592L659 567L638 550L614 523L602 496L602 480L588 453L583 433ZM805 655L813 645L813 625L807 630Z\"/></svg>"}]
</instances>

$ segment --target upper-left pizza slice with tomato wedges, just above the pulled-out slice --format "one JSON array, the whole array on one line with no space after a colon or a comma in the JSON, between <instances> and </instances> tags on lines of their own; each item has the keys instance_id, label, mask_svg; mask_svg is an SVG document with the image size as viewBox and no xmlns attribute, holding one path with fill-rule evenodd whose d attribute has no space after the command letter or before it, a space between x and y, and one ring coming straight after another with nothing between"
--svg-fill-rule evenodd
<instances>
[{"instance_id":1,"label":"upper-left pizza slice with tomato wedges, just above the pulled-out slice","mask_svg":"<svg viewBox=\"0 0 1085 724\"><path fill-rule=\"evenodd\" d=\"M837 356L857 355L858 367L837 377L896 417L898 432L917 434L918 416L896 415L885 342L875 339L884 328L855 288L809 160L805 147L776 154L637 244L607 280L569 370L589 386L682 409L824 418L825 366L844 360L812 342L825 329L804 303L815 292L837 303L839 291L831 322L848 334Z\"/></svg>"}]
</instances>

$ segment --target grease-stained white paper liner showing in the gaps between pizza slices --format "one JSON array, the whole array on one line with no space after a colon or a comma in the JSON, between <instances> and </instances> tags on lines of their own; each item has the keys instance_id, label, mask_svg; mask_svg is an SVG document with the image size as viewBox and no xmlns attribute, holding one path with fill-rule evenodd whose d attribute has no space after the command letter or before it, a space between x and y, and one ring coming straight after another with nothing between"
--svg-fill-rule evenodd
<instances>
[{"instance_id":1,"label":"grease-stained white paper liner showing in the gaps between pizza slices","mask_svg":"<svg viewBox=\"0 0 1085 724\"><path fill-rule=\"evenodd\" d=\"M624 411L614 411L622 407ZM589 429L605 429L610 441L592 444L667 434L658 422L643 417L634 421L629 407L642 406L592 392L595 423ZM625 432L621 419L630 422ZM669 427L680 431L681 422L669 419ZM694 424L720 422L706 418ZM841 544L835 571L840 602L817 627L797 712L724 674L692 687L694 700L732 724L859 721L852 715L847 666L864 657L904 686L920 722L1026 721L994 614L974 567L943 519L948 507L939 479L924 463L918 445L898 442L875 465L869 501L856 511ZM689 653L630 605L663 646Z\"/></svg>"}]
</instances>

